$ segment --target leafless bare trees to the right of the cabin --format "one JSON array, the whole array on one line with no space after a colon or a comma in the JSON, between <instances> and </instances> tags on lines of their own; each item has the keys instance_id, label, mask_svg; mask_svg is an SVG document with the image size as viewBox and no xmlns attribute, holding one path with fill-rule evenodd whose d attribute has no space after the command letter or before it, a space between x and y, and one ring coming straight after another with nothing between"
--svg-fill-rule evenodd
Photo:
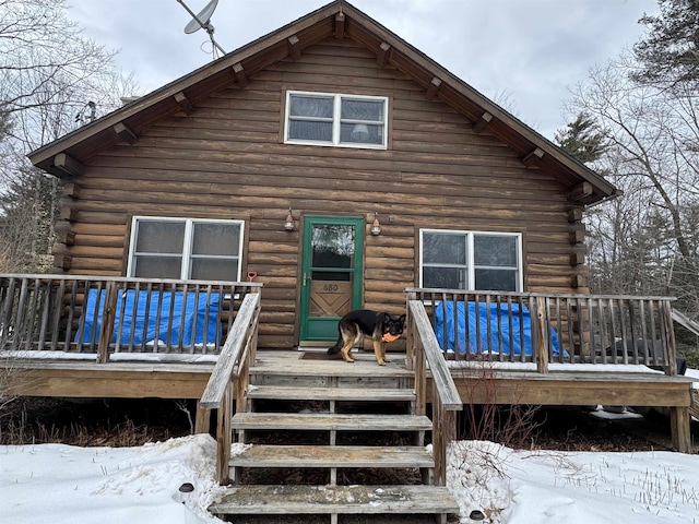
<instances>
[{"instance_id":1,"label":"leafless bare trees to the right of the cabin","mask_svg":"<svg viewBox=\"0 0 699 524\"><path fill-rule=\"evenodd\" d=\"M699 314L699 99L632 78L629 55L591 71L571 114L591 116L608 141L594 167L625 195L591 217L592 270L606 290L671 293ZM593 283L595 277L593 276Z\"/></svg>"}]
</instances>

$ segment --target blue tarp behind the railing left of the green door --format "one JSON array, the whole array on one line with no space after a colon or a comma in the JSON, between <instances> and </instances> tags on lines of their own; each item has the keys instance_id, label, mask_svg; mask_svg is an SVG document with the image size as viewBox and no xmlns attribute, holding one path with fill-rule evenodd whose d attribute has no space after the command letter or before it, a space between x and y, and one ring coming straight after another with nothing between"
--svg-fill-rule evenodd
<instances>
[{"instance_id":1,"label":"blue tarp behind the railing left of the green door","mask_svg":"<svg viewBox=\"0 0 699 524\"><path fill-rule=\"evenodd\" d=\"M131 337L131 326L135 325L133 332L133 344L140 345L145 340L146 343L154 341L167 342L168 340L168 326L170 330L170 344L179 345L180 338L182 345L203 344L204 343L204 329L206 331L206 343L214 343L216 341L216 326L218 317L218 294L205 294L200 293L197 297L196 293L182 293L182 291L163 291L161 298L159 291L139 291L139 300L137 310L133 311L135 302L137 291L129 289L126 291L126 300L123 299L123 293L117 299L117 312L115 318L114 332L111 335L111 342L117 342L118 333L121 333L120 344L128 345ZM87 305L84 309L85 324L83 327L82 342L88 344L91 342L96 343L99 338L99 329L102 324L102 317L105 306L106 290L99 293L99 305L97 306L97 289L91 289L87 295ZM149 303L149 295L151 297ZM173 305L173 300L175 303ZM209 303L209 318L206 319L206 303ZM146 305L147 310L147 325L146 320ZM121 319L121 308L125 307L125 315ZM161 314L158 318L158 306ZM173 318L170 319L170 306L173 306ZM197 311L194 311L197 307ZM97 309L97 311L95 311ZM96 318L95 318L96 314ZM182 317L185 318L182 322ZM197 332L193 333L194 317L197 318ZM156 325L156 320L159 320ZM181 327L181 329L180 329ZM181 333L180 333L181 331ZM221 335L220 335L221 336ZM79 335L75 335L75 342L79 342Z\"/></svg>"}]
</instances>

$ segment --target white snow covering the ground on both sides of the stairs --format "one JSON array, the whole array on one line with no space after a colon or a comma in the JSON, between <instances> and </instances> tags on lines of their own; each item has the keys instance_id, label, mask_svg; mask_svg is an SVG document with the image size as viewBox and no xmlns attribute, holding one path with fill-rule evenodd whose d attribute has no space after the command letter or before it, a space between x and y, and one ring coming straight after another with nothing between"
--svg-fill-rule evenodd
<instances>
[{"instance_id":1,"label":"white snow covering the ground on both sides of the stairs","mask_svg":"<svg viewBox=\"0 0 699 524\"><path fill-rule=\"evenodd\" d=\"M220 489L214 460L208 434L141 448L0 446L0 522L221 523L205 511ZM185 483L194 490L182 503ZM491 524L699 524L699 455L461 441L449 450L448 485L462 523L481 510Z\"/></svg>"}]
</instances>

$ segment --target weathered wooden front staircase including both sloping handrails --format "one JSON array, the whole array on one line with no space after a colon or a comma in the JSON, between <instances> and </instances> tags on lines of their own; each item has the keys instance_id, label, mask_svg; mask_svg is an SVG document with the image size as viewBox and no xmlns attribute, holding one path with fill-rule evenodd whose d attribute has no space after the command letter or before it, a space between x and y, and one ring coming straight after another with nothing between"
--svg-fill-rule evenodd
<instances>
[{"instance_id":1,"label":"weathered wooden front staircase including both sloping handrails","mask_svg":"<svg viewBox=\"0 0 699 524\"><path fill-rule=\"evenodd\" d=\"M216 409L216 479L227 486L209 510L232 522L430 515L446 524L459 511L446 488L446 450L463 404L423 303L407 301L406 354L384 367L367 354L353 365L258 354L259 314L260 294L246 295L200 401L201 412ZM316 407L293 407L301 402ZM250 445L232 456L234 432Z\"/></svg>"}]
</instances>

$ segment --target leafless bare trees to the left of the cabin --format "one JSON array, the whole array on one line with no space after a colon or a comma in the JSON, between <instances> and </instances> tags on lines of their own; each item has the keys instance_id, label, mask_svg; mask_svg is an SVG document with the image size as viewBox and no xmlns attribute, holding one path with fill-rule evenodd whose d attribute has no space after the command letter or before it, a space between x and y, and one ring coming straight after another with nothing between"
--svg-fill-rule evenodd
<instances>
[{"instance_id":1,"label":"leafless bare trees to the left of the cabin","mask_svg":"<svg viewBox=\"0 0 699 524\"><path fill-rule=\"evenodd\" d=\"M0 259L48 269L60 188L26 154L120 105L138 88L114 51L85 38L64 0L0 0ZM85 110L87 109L87 111Z\"/></svg>"}]
</instances>

